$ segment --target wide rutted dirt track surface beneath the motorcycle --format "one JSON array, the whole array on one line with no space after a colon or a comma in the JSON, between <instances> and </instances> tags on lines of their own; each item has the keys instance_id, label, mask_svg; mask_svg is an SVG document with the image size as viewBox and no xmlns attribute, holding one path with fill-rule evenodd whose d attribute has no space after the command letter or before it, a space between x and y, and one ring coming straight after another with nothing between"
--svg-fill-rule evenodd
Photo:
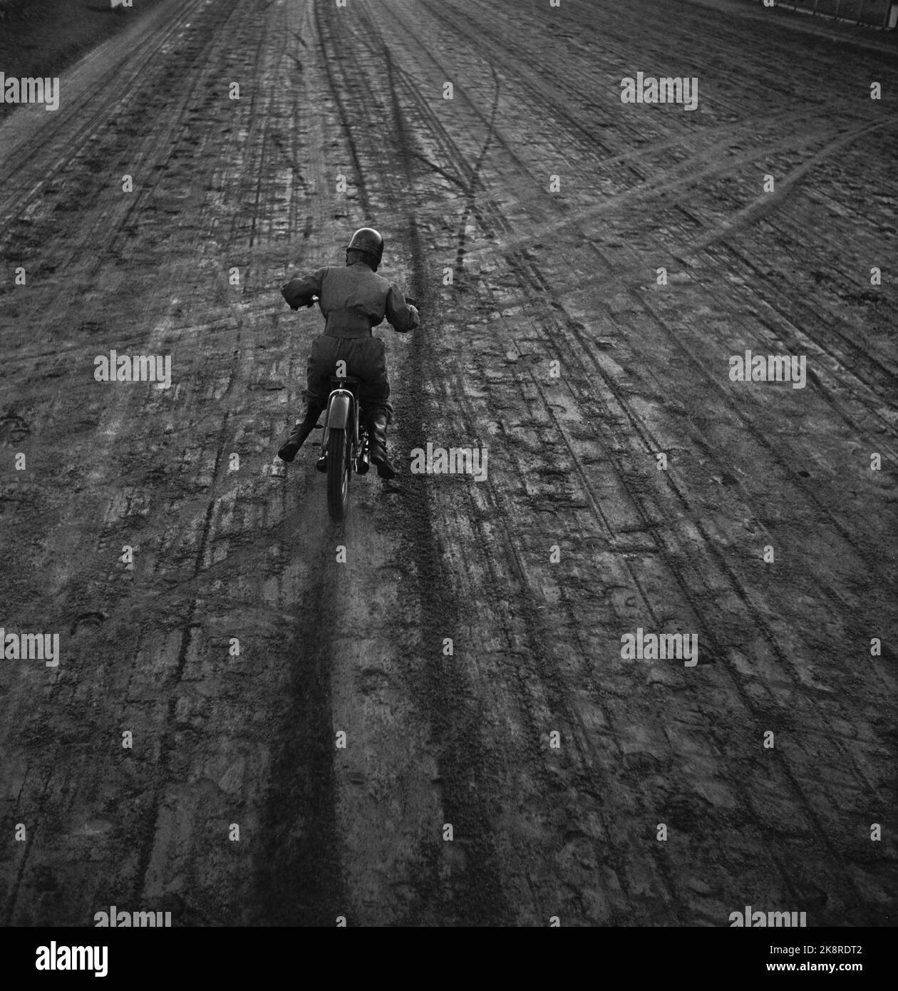
<instances>
[{"instance_id":1,"label":"wide rutted dirt track surface beneath the motorcycle","mask_svg":"<svg viewBox=\"0 0 898 991\"><path fill-rule=\"evenodd\" d=\"M6 925L893 919L898 69L756 13L164 2L4 122L0 625L60 639L0 662ZM278 290L363 223L423 325L335 526L272 470L321 326Z\"/></svg>"}]
</instances>

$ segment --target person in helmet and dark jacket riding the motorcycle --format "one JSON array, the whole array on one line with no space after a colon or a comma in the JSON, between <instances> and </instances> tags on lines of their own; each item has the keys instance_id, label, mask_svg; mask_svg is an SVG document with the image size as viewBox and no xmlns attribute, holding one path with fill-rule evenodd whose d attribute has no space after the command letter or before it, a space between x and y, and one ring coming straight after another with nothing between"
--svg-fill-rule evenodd
<instances>
[{"instance_id":1,"label":"person in helmet and dark jacket riding the motorcycle","mask_svg":"<svg viewBox=\"0 0 898 991\"><path fill-rule=\"evenodd\" d=\"M318 269L293 278L281 288L290 309L311 306L312 296L324 314L324 333L312 341L306 367L305 418L278 452L281 461L291 462L306 437L315 428L327 406L330 377L338 361L346 362L346 375L360 380L359 404L366 417L370 457L382 479L392 479L395 469L387 456L387 427L393 419L390 381L384 341L371 329L385 316L393 330L404 334L419 326L414 300L403 296L394 282L376 275L384 257L384 238L371 227L362 227L346 246L346 266Z\"/></svg>"}]
</instances>

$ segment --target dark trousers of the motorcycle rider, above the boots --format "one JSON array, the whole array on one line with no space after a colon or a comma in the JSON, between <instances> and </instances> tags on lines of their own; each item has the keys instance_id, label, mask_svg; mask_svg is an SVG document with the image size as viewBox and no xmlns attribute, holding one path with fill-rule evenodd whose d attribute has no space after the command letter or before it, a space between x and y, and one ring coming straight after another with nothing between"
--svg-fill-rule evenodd
<instances>
[{"instance_id":1,"label":"dark trousers of the motorcycle rider, above the boots","mask_svg":"<svg viewBox=\"0 0 898 991\"><path fill-rule=\"evenodd\" d=\"M330 379L337 374L337 362L346 363L341 372L360 380L362 415L370 417L383 412L389 424L393 419L393 403L390 401L387 356L380 337L343 338L319 334L312 341L305 388L309 411L314 408L320 411L327 406L327 397L333 387Z\"/></svg>"}]
</instances>

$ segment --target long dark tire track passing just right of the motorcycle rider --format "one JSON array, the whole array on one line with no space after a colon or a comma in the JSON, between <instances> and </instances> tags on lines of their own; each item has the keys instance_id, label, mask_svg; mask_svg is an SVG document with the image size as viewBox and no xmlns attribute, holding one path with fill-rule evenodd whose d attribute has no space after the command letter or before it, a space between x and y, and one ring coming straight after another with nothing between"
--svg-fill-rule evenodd
<instances>
[{"instance_id":1,"label":"long dark tire track passing just right of the motorcycle rider","mask_svg":"<svg viewBox=\"0 0 898 991\"><path fill-rule=\"evenodd\" d=\"M345 44L347 28L342 25L343 36L338 46L334 35L334 23L340 19L341 13L331 12L319 14L316 8L315 17L322 45L322 54L326 65L349 64L354 66L356 74L359 66L352 60L353 56ZM369 38L379 38L372 23L365 21L371 32ZM389 50L383 45L377 53L386 62L388 77L393 74L394 65ZM374 48L374 46L373 46ZM347 62L346 59L349 59ZM340 117L346 134L347 142L352 148L357 147L355 128L347 110L348 97L343 97L337 85L337 73L328 68L328 78L334 93L335 101L340 108ZM401 116L397 116L396 105L389 93L383 102L383 109L374 103L364 86L357 86L353 98L364 108L366 126L379 118L385 126L391 129L394 143L402 150L407 149L407 140L403 130ZM393 108L391 114L388 107ZM358 112L358 111L357 111ZM386 197L386 209L391 216L405 218L403 241L410 248L411 254L411 286L415 295L421 299L424 306L425 326L431 325L428 319L428 303L431 293L428 288L429 278L424 262L425 249L417 234L413 216L408 212L407 202L396 195L392 183L387 178L390 175L390 158L381 151L378 145L373 150L380 160L380 167L373 174L380 177L378 192ZM354 153L357 167L358 155ZM410 179L408 159L402 156L406 180ZM361 173L360 173L361 174ZM360 195L366 217L376 222L373 193L367 180L360 181ZM422 372L421 353L424 344L415 333L411 342L411 357L409 375L405 378L403 388L403 415L399 425L399 435L404 439L407 424L415 416L419 416L426 408L420 399ZM406 411L407 410L407 411ZM406 646L408 659L399 664L402 680L411 693L411 699L417 710L426 718L428 733L428 750L433 753L434 772L433 784L429 790L439 803L438 818L432 820L429 826L433 838L426 840L421 836L417 855L420 861L418 876L414 884L411 901L403 911L403 918L441 919L444 924L450 919L456 924L471 925L475 922L496 924L505 918L505 907L502 904L498 884L495 853L489 839L485 838L479 828L485 822L486 814L482 806L481 796L489 794L489 788L484 785L484 759L480 746L480 734L476 729L476 720L470 712L469 694L459 681L451 659L434 660L434 655L440 657L439 645L428 642L427 632L434 616L441 618L450 635L458 619L458 606L454 599L447 598L445 581L440 576L438 555L433 523L430 519L428 498L418 487L399 488L404 523L403 547L404 556L413 560L417 575L415 611L417 620L405 636L410 637L413 646ZM471 782L474 783L473 794ZM450 846L442 843L439 838L438 824L451 823L457 832L457 845ZM420 833L419 833L420 835ZM440 844L440 845L438 845ZM455 852L458 850L458 852ZM406 853L406 856L411 855ZM347 869L358 876L358 865L348 864ZM423 871L423 873L421 873ZM429 875L429 876L428 876Z\"/></svg>"}]
</instances>

